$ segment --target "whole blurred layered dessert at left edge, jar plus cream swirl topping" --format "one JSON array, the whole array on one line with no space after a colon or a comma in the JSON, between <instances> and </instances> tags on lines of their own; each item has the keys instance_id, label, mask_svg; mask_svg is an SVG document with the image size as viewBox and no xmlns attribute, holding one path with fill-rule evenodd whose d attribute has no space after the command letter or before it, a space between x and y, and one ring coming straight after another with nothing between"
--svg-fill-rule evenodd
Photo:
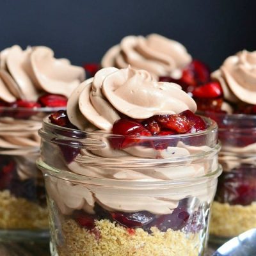
<instances>
[{"instance_id":1,"label":"whole blurred layered dessert at left edge, jar plus cream swirl topping","mask_svg":"<svg viewBox=\"0 0 256 256\"><path fill-rule=\"evenodd\" d=\"M38 129L46 115L66 108L67 97L83 79L83 68L54 58L48 47L13 45L0 52L1 236L46 234L44 179L35 164Z\"/></svg>"}]
</instances>

